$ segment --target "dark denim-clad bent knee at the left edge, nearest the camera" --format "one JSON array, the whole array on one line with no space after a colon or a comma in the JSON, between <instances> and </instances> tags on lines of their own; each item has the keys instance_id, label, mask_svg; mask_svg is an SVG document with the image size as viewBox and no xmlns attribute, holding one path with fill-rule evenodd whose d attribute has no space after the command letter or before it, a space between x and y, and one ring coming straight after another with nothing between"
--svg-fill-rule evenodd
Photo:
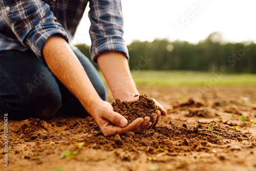
<instances>
[{"instance_id":1,"label":"dark denim-clad bent knee at the left edge, nearest the camera","mask_svg":"<svg viewBox=\"0 0 256 171\"><path fill-rule=\"evenodd\" d=\"M60 108L56 79L33 53L0 52L0 73L0 114L49 119Z\"/></svg>"}]
</instances>

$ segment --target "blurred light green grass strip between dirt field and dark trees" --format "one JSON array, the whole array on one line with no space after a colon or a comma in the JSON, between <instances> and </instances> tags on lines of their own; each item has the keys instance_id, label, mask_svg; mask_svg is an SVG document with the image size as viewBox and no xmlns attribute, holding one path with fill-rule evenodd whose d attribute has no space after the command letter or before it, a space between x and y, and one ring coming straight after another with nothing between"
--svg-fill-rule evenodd
<instances>
[{"instance_id":1,"label":"blurred light green grass strip between dirt field and dark trees","mask_svg":"<svg viewBox=\"0 0 256 171\"><path fill-rule=\"evenodd\" d=\"M217 74L198 71L131 71L138 85L150 86L255 86L256 74ZM103 78L102 73L100 76ZM103 79L104 80L104 79ZM106 81L104 80L104 83Z\"/></svg>"}]
</instances>

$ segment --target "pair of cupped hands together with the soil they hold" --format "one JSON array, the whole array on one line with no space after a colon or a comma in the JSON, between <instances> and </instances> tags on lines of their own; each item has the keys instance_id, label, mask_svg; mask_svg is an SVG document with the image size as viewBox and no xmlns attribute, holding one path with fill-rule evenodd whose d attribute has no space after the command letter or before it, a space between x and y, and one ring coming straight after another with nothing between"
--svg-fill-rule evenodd
<instances>
[{"instance_id":1,"label":"pair of cupped hands together with the soil they hold","mask_svg":"<svg viewBox=\"0 0 256 171\"><path fill-rule=\"evenodd\" d=\"M138 98L139 100L135 100ZM92 113L92 117L106 137L124 134L125 131L138 132L148 129L159 122L161 114L166 115L166 111L162 109L161 105L156 106L154 99L146 96L129 99L129 102L121 102L117 99L112 105L109 102L101 101Z\"/></svg>"}]
</instances>

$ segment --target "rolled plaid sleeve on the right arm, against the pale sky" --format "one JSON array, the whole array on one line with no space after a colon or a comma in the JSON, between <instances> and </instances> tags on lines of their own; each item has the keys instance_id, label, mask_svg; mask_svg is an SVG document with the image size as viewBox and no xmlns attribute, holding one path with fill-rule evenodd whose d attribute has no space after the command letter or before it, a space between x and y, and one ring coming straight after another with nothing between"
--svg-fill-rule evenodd
<instances>
[{"instance_id":1,"label":"rolled plaid sleeve on the right arm, against the pale sky","mask_svg":"<svg viewBox=\"0 0 256 171\"><path fill-rule=\"evenodd\" d=\"M90 1L89 18L92 41L91 57L97 63L97 57L106 51L118 51L129 59L129 53L123 39L123 16L120 0Z\"/></svg>"}]
</instances>

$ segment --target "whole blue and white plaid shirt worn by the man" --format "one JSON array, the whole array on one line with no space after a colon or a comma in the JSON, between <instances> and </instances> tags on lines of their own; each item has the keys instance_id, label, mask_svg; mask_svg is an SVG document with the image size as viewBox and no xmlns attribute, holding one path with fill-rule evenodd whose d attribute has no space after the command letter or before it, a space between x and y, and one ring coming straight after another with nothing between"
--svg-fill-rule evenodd
<instances>
[{"instance_id":1,"label":"whole blue and white plaid shirt worn by the man","mask_svg":"<svg viewBox=\"0 0 256 171\"><path fill-rule=\"evenodd\" d=\"M42 47L47 38L61 34L69 42L88 2L93 61L105 51L123 52L129 58L122 38L120 0L0 0L0 51L30 49L44 60Z\"/></svg>"}]
</instances>

